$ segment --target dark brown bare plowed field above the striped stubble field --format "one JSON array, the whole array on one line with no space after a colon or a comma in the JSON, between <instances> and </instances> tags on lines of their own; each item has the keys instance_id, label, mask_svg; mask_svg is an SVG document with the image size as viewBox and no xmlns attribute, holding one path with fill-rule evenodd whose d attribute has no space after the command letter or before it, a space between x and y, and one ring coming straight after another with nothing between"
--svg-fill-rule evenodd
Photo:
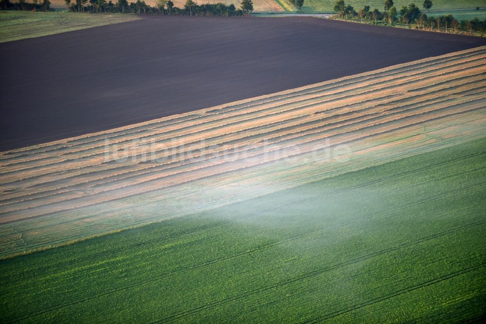
<instances>
[{"instance_id":1,"label":"dark brown bare plowed field above the striped stubble field","mask_svg":"<svg viewBox=\"0 0 486 324\"><path fill-rule=\"evenodd\" d=\"M0 150L480 45L319 18L151 17L0 44Z\"/></svg>"}]
</instances>

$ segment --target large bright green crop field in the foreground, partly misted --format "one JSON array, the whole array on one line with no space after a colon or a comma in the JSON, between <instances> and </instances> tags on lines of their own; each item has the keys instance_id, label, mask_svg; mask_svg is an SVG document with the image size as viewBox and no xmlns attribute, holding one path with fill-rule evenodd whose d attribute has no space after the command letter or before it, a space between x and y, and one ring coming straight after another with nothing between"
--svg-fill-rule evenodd
<instances>
[{"instance_id":1,"label":"large bright green crop field in the foreground, partly misted","mask_svg":"<svg viewBox=\"0 0 486 324\"><path fill-rule=\"evenodd\" d=\"M458 322L486 300L486 138L0 261L0 322Z\"/></svg>"}]
</instances>

